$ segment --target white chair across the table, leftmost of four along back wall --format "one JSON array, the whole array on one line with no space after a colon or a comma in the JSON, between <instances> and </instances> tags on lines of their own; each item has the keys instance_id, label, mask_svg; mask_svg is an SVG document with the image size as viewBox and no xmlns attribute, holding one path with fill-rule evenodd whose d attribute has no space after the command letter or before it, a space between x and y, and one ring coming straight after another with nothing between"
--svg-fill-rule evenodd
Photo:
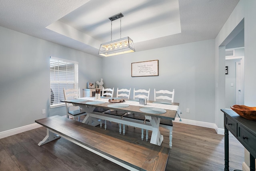
<instances>
[{"instance_id":1,"label":"white chair across the table, leftmost of four along back wall","mask_svg":"<svg viewBox=\"0 0 256 171\"><path fill-rule=\"evenodd\" d=\"M102 87L102 96L113 97L113 94L114 94L114 87L113 87L113 89ZM102 107L95 107L95 109L93 110L92 113L101 115L101 114L104 114L106 111L109 111L109 109L102 108ZM102 127L102 121L103 120L100 119L100 127ZM106 130L107 129L107 121L105 120L104 123L105 123L104 128Z\"/></svg>"}]
</instances>

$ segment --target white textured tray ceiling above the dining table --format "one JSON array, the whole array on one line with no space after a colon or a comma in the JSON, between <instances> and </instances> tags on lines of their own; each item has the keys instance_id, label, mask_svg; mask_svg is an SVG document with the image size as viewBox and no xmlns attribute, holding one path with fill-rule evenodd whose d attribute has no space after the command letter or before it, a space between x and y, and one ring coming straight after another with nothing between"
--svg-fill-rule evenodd
<instances>
[{"instance_id":1,"label":"white textured tray ceiling above the dining table","mask_svg":"<svg viewBox=\"0 0 256 171\"><path fill-rule=\"evenodd\" d=\"M216 38L239 0L1 0L0 26L98 56L110 16L135 50ZM112 22L112 40L120 20ZM102 57L102 56L100 56Z\"/></svg>"}]
</instances>

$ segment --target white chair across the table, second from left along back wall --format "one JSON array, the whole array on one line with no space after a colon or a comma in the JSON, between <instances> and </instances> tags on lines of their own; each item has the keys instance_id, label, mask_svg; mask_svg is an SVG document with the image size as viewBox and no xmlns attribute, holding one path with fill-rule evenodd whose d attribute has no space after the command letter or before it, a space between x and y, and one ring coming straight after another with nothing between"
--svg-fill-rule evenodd
<instances>
[{"instance_id":1,"label":"white chair across the table, second from left along back wall","mask_svg":"<svg viewBox=\"0 0 256 171\"><path fill-rule=\"evenodd\" d=\"M130 92L131 92L131 88L130 89L118 89L116 90L116 97L117 98L122 98L124 97L125 99L130 99ZM126 112L124 111L117 111L117 110L111 110L111 111L108 111L108 112L105 112L106 115L113 115L113 116L116 116L116 117L120 117L122 118L124 114L126 114ZM121 134L122 133L122 125L121 123L118 123L119 124L119 133ZM123 125L123 134L125 134L125 125Z\"/></svg>"}]
</instances>

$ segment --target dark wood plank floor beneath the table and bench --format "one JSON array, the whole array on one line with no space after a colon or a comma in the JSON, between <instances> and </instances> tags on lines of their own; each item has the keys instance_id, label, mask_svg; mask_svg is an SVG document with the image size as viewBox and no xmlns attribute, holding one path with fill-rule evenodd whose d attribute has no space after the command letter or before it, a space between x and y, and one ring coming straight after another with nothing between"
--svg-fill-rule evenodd
<instances>
[{"instance_id":1,"label":"dark wood plank floor beneath the table and bench","mask_svg":"<svg viewBox=\"0 0 256 171\"><path fill-rule=\"evenodd\" d=\"M116 123L108 122L108 129L119 136ZM161 128L160 132L164 135L162 145L168 147L168 130ZM140 134L141 129L128 127L125 136L140 139ZM126 170L64 138L39 147L37 144L45 135L46 128L40 127L0 139L0 171ZM230 170L242 169L243 161L244 147L230 135ZM173 146L166 171L223 170L224 135L216 134L214 129L174 123Z\"/></svg>"}]
</instances>

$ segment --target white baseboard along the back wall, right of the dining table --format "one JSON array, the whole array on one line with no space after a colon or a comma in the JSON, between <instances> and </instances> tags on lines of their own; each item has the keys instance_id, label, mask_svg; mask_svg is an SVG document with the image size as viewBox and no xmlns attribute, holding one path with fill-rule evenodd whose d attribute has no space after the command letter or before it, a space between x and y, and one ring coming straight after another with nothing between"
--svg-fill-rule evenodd
<instances>
[{"instance_id":1,"label":"white baseboard along the back wall, right of the dining table","mask_svg":"<svg viewBox=\"0 0 256 171\"><path fill-rule=\"evenodd\" d=\"M189 119L182 119L182 121L179 121L179 120L180 118L177 117L173 122L184 123L184 124L194 125L199 127L212 128L212 129L215 129L216 133L224 135L224 129L218 128L215 123L193 121Z\"/></svg>"}]
</instances>

